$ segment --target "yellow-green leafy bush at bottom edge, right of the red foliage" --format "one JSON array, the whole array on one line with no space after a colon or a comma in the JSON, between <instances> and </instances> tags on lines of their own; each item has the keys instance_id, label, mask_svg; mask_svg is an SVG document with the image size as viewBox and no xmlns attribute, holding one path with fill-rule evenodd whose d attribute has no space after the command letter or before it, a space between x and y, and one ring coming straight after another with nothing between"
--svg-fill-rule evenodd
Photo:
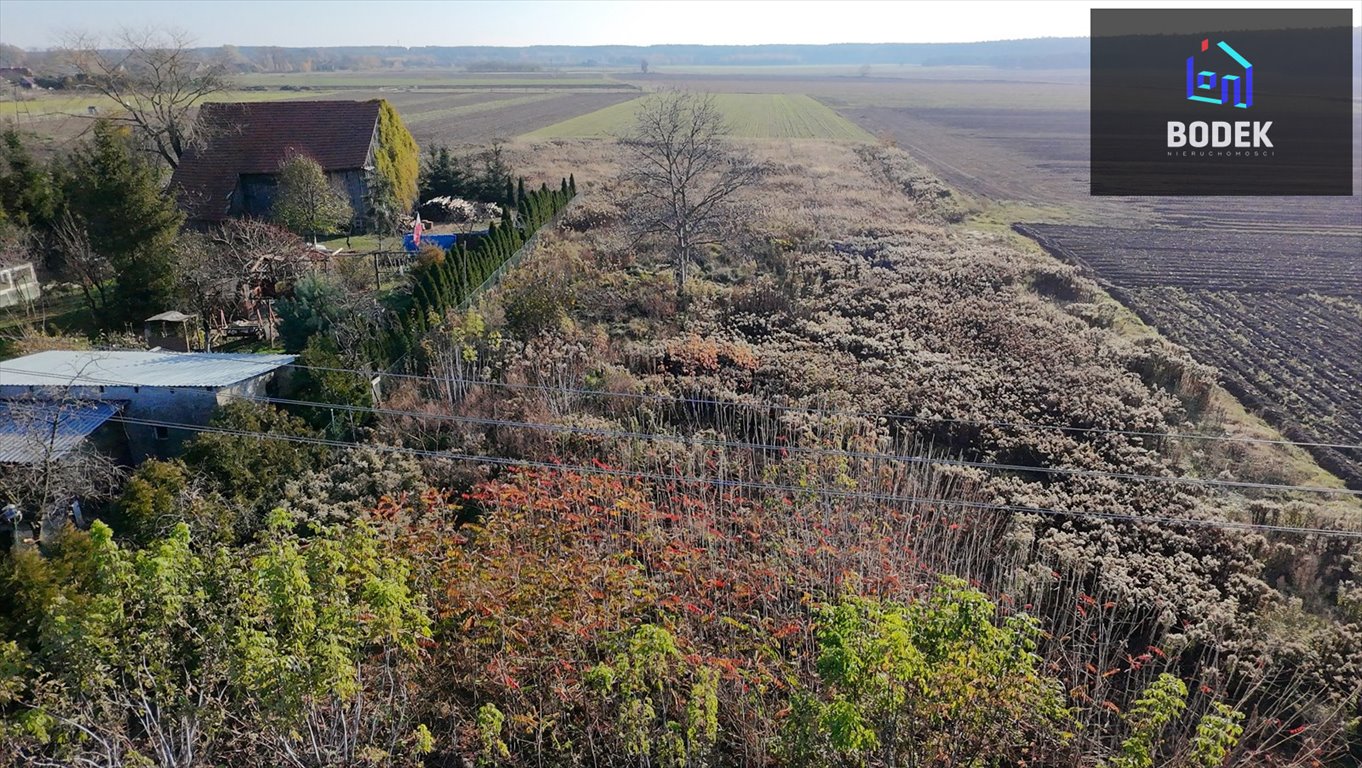
<instances>
[{"instance_id":1,"label":"yellow-green leafy bush at bottom edge, right of the red foliage","mask_svg":"<svg viewBox=\"0 0 1362 768\"><path fill-rule=\"evenodd\" d=\"M799 765L1015 764L1062 738L1071 715L1042 671L1041 630L956 577L908 605L847 596L819 611L816 692L786 729Z\"/></svg>"}]
</instances>

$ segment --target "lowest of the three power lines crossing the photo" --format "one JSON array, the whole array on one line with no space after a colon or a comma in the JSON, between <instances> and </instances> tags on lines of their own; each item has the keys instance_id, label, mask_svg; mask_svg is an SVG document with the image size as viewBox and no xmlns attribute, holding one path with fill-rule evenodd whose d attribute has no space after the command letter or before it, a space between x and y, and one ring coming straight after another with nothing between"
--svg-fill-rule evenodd
<instances>
[{"instance_id":1,"label":"lowest of the three power lines crossing the photo","mask_svg":"<svg viewBox=\"0 0 1362 768\"><path fill-rule=\"evenodd\" d=\"M370 448L379 452L388 453L403 453L410 456L421 456L428 459L445 459L454 462L467 462L467 463L481 463L481 464L497 464L507 467L524 467L524 468L542 468L550 471L575 471L582 474L597 474L605 477L624 478L624 479L651 479L659 482L682 482L682 483L697 483L697 485L714 485L719 487L746 487L753 490L770 490L779 493L791 494L816 494L823 497L846 498L846 500L862 500L862 501L891 501L891 502L906 502L906 504L933 504L944 507L959 507L966 509L981 509L993 512L1019 512L1030 515L1046 515L1056 517L1076 517L1076 519L1098 519L1098 520L1115 520L1115 522L1129 522L1129 523L1158 523L1169 526L1188 526L1188 527L1203 527L1203 528L1223 528L1223 530L1239 530L1239 531L1260 531L1260 532L1290 532L1302 535L1328 535L1340 538L1359 538L1362 539L1362 531L1346 531L1339 528L1308 528L1298 526L1276 526L1269 523L1242 523L1237 520L1201 520L1194 517L1169 517L1162 515L1132 515L1124 512L1096 512L1096 511L1068 511L1068 509L1051 509L1045 507L1022 507L1015 504L990 504L983 501L968 501L957 498L934 498L925 496L903 496L892 493L880 492L851 492L851 490L838 490L828 487L801 487L793 485L780 483L767 483L756 481L740 481L740 479L720 479L720 478L701 478L692 475L669 475L663 473L640 473L628 470L616 470L605 466L588 467L582 464L563 464L553 462L537 462L531 459L509 459L503 456L478 456L473 453L458 453L452 451L430 451L422 448L406 448L400 445L380 445L369 443L349 443L343 440L331 440L326 437L306 437L298 434L276 434L267 432L252 432L241 429L227 429L221 426L200 426L191 423L168 422L159 419L146 419L125 415L113 415L110 421L118 421L121 423L132 423L140 426L162 426L168 429L183 429L187 432L199 433L214 433L214 434L230 434L236 437L255 437L257 440L281 440L289 443L300 443L308 445L321 445L330 448Z\"/></svg>"}]
</instances>

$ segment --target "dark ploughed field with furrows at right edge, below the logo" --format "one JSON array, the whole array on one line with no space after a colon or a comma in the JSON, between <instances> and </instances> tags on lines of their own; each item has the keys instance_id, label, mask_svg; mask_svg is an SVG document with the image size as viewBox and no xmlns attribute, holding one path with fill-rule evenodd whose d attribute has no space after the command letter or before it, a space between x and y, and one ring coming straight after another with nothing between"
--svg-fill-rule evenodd
<instances>
[{"instance_id":1,"label":"dark ploughed field with furrows at right edge, below the logo","mask_svg":"<svg viewBox=\"0 0 1362 768\"><path fill-rule=\"evenodd\" d=\"M1227 389L1290 438L1362 443L1362 236L1016 229L1215 365ZM1310 452L1362 487L1362 451Z\"/></svg>"}]
</instances>

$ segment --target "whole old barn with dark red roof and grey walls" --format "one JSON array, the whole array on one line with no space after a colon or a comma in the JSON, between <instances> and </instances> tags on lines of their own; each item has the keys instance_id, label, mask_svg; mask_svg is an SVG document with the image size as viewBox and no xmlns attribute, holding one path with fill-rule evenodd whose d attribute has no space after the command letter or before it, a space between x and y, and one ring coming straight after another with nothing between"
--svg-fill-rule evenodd
<instances>
[{"instance_id":1,"label":"whole old barn with dark red roof and grey walls","mask_svg":"<svg viewBox=\"0 0 1362 768\"><path fill-rule=\"evenodd\" d=\"M270 215L279 166L294 154L317 161L362 215L380 151L380 101L206 103L199 142L170 180L197 225ZM403 128L405 131L405 128Z\"/></svg>"}]
</instances>

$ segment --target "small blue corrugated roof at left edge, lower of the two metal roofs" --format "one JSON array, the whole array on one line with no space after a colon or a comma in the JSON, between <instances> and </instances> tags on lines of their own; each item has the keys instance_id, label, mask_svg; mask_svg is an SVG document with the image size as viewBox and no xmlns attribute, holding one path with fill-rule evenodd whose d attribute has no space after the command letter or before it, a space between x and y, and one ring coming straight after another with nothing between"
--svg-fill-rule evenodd
<instances>
[{"instance_id":1,"label":"small blue corrugated roof at left edge, lower of the two metal roofs","mask_svg":"<svg viewBox=\"0 0 1362 768\"><path fill-rule=\"evenodd\" d=\"M0 400L0 464L60 459L116 413L113 403Z\"/></svg>"}]
</instances>

